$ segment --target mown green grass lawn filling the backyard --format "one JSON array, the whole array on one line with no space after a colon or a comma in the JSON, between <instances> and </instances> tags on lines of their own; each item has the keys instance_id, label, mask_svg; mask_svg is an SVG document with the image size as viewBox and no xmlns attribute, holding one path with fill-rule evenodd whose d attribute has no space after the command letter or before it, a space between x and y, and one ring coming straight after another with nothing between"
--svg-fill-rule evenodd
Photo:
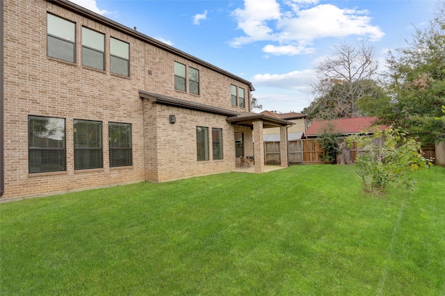
<instances>
[{"instance_id":1,"label":"mown green grass lawn filling the backyard","mask_svg":"<svg viewBox=\"0 0 445 296\"><path fill-rule=\"evenodd\" d=\"M445 295L445 168L292 166L0 204L0 295Z\"/></svg>"}]
</instances>

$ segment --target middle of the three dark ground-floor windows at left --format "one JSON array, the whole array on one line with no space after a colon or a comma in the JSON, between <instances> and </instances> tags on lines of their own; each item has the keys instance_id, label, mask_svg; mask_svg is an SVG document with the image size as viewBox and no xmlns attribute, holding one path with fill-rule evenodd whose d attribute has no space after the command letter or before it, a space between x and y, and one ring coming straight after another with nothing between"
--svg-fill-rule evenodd
<instances>
[{"instance_id":1,"label":"middle of the three dark ground-floor windows at left","mask_svg":"<svg viewBox=\"0 0 445 296\"><path fill-rule=\"evenodd\" d=\"M74 120L74 170L102 167L102 122Z\"/></svg>"}]
</instances>

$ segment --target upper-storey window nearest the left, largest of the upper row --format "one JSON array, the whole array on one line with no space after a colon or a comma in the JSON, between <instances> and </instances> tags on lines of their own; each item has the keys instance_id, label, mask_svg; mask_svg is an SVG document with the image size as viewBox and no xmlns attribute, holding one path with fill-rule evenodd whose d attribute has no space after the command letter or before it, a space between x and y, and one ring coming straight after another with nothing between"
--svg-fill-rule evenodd
<instances>
[{"instance_id":1,"label":"upper-storey window nearest the left, largest of the upper row","mask_svg":"<svg viewBox=\"0 0 445 296\"><path fill-rule=\"evenodd\" d=\"M76 24L47 13L47 55L75 62Z\"/></svg>"}]
</instances>

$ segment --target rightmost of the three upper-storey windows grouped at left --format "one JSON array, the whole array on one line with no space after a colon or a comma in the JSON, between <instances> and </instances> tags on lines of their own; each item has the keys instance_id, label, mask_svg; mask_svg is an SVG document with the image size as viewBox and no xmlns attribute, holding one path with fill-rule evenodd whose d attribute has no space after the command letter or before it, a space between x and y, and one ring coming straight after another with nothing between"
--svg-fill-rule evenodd
<instances>
[{"instance_id":1,"label":"rightmost of the three upper-storey windows grouped at left","mask_svg":"<svg viewBox=\"0 0 445 296\"><path fill-rule=\"evenodd\" d=\"M130 44L110 38L110 71L130 76Z\"/></svg>"}]
</instances>

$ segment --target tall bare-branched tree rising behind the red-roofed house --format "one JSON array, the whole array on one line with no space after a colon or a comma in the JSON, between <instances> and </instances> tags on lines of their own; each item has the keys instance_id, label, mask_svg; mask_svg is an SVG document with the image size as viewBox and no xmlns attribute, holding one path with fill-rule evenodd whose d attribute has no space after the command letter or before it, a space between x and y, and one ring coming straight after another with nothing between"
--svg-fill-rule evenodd
<instances>
[{"instance_id":1,"label":"tall bare-branched tree rising behind the red-roofed house","mask_svg":"<svg viewBox=\"0 0 445 296\"><path fill-rule=\"evenodd\" d=\"M374 48L362 41L357 47L339 44L316 65L318 81L311 83L314 101L305 110L309 119L333 119L362 115L357 101L373 97L378 85Z\"/></svg>"}]
</instances>

